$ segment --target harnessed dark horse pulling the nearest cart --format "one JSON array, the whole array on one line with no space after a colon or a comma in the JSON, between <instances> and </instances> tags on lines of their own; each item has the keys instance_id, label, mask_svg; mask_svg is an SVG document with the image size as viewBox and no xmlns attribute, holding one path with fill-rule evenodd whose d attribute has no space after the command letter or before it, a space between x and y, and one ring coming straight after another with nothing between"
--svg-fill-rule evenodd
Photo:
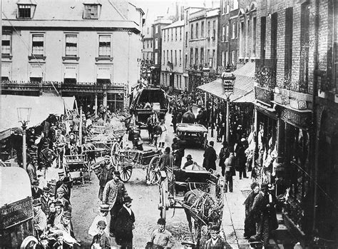
<instances>
[{"instance_id":1,"label":"harnessed dark horse pulling the nearest cart","mask_svg":"<svg viewBox=\"0 0 338 249\"><path fill-rule=\"evenodd\" d=\"M184 195L185 215L189 223L190 233L193 233L191 218L194 218L197 246L200 245L201 228L203 225L218 225L222 220L222 203L216 203L210 194L199 189L190 190ZM196 217L197 216L197 217Z\"/></svg>"}]
</instances>

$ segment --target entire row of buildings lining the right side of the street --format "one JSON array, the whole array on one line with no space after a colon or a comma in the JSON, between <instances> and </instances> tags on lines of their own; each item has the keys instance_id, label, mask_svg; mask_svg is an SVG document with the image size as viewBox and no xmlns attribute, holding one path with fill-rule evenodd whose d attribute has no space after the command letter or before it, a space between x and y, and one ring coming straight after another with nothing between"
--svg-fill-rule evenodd
<instances>
[{"instance_id":1,"label":"entire row of buildings lining the right side of the street","mask_svg":"<svg viewBox=\"0 0 338 249\"><path fill-rule=\"evenodd\" d=\"M155 85L200 86L225 100L214 76L232 66L230 101L255 108L255 167L285 195L285 225L302 245L337 243L337 1L213 4L155 20L143 40L148 75Z\"/></svg>"}]
</instances>

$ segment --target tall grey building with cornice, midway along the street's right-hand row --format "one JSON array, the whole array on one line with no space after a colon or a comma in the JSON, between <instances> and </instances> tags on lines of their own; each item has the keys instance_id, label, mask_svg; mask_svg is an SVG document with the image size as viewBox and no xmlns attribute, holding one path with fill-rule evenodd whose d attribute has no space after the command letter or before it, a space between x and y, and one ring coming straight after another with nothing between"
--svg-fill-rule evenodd
<instances>
[{"instance_id":1,"label":"tall grey building with cornice, midway along the street's right-hand row","mask_svg":"<svg viewBox=\"0 0 338 249\"><path fill-rule=\"evenodd\" d=\"M219 8L200 9L188 15L188 91L205 83L217 70Z\"/></svg>"}]
</instances>

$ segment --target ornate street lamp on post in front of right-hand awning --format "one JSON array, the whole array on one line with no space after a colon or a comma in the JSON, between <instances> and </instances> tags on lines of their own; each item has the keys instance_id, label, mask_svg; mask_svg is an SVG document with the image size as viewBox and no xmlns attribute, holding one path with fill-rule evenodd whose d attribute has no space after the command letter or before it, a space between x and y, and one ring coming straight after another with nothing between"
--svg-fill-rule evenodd
<instances>
[{"instance_id":1,"label":"ornate street lamp on post in front of right-hand awning","mask_svg":"<svg viewBox=\"0 0 338 249\"><path fill-rule=\"evenodd\" d=\"M225 136L225 139L227 143L229 143L229 138L230 138L230 113L229 113L229 106L230 106L230 95L234 91L234 83L235 83L235 75L231 73L230 68L227 67L226 71L222 73L221 75L222 78L222 88L223 88L223 94L227 96L227 123L226 123L226 129L227 133Z\"/></svg>"}]
</instances>

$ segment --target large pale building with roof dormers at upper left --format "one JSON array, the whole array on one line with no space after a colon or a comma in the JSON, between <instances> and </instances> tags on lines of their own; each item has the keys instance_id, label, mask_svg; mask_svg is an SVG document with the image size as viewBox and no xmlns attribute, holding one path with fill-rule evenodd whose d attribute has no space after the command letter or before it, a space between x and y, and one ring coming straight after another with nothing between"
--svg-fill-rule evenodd
<instances>
[{"instance_id":1,"label":"large pale building with roof dormers at upper left","mask_svg":"<svg viewBox=\"0 0 338 249\"><path fill-rule=\"evenodd\" d=\"M95 96L111 111L126 107L139 78L141 9L127 1L8 1L2 20L3 93L20 84L19 94L48 88L85 109Z\"/></svg>"}]
</instances>

